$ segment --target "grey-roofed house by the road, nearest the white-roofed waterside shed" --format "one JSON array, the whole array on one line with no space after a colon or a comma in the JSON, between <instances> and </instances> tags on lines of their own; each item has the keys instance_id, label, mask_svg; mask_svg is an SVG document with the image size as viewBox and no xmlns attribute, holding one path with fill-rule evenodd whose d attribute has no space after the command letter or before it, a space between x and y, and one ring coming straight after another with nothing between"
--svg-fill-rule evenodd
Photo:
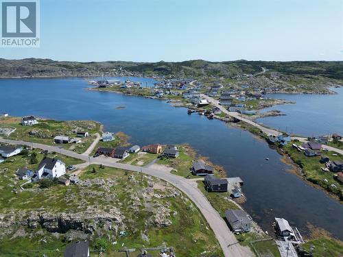
<instances>
[{"instance_id":1,"label":"grey-roofed house by the road, nearest the white-roofed waterside shed","mask_svg":"<svg viewBox=\"0 0 343 257\"><path fill-rule=\"evenodd\" d=\"M233 232L250 231L252 219L244 210L226 210L225 217Z\"/></svg>"}]
</instances>

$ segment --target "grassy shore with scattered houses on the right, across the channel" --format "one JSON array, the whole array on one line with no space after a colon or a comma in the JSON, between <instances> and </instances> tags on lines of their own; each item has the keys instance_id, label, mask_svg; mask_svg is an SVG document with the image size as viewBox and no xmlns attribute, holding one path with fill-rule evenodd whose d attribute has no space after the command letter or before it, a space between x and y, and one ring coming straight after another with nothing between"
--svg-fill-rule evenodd
<instances>
[{"instance_id":1,"label":"grassy shore with scattered houses on the right, across the channel","mask_svg":"<svg viewBox=\"0 0 343 257\"><path fill-rule=\"evenodd\" d=\"M318 184L327 191L338 195L338 197L343 200L343 185L333 178L335 173L331 171L322 171L321 168L325 167L325 164L320 163L320 156L307 157L303 152L292 147L292 143L287 144L283 149L285 150L285 153L303 169L306 180ZM343 156L340 154L338 154L338 156L333 156L333 154L336 154L333 151L323 152L323 154L328 156L330 160L343 160ZM327 182L325 180L327 180ZM332 186L332 184L335 186Z\"/></svg>"}]
</instances>

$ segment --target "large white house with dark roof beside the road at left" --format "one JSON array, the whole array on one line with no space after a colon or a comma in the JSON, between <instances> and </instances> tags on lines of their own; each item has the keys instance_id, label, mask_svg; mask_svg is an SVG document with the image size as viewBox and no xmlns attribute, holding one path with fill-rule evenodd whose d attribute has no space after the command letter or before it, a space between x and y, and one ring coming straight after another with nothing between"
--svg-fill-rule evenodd
<instances>
[{"instance_id":1,"label":"large white house with dark roof beside the road at left","mask_svg":"<svg viewBox=\"0 0 343 257\"><path fill-rule=\"evenodd\" d=\"M38 170L34 173L32 180L43 178L59 178L65 174L65 164L58 159L45 157L39 164Z\"/></svg>"}]
</instances>

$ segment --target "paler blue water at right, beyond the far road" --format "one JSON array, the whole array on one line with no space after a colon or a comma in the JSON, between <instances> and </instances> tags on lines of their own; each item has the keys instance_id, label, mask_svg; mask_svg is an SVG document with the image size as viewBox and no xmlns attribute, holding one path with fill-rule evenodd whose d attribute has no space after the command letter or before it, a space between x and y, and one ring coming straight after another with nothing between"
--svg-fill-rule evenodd
<instances>
[{"instance_id":1,"label":"paler blue water at right, beyond the far road","mask_svg":"<svg viewBox=\"0 0 343 257\"><path fill-rule=\"evenodd\" d=\"M333 88L338 95L272 94L266 97L287 99L296 104L272 106L263 111L281 110L286 116L257 119L270 127L300 136L343 134L343 88Z\"/></svg>"}]
</instances>

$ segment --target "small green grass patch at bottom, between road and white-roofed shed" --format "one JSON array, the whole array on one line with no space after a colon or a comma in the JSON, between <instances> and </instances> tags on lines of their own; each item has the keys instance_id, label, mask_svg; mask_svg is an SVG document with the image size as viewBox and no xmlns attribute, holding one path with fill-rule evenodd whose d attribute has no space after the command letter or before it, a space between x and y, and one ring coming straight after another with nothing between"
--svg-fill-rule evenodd
<instances>
[{"instance_id":1,"label":"small green grass patch at bottom, between road and white-roofed shed","mask_svg":"<svg viewBox=\"0 0 343 257\"><path fill-rule=\"evenodd\" d=\"M237 234L236 238L241 245L250 247L253 252L255 252L256 250L260 256L281 257L279 249L272 238L270 238L270 240L268 241L254 242L257 240L268 238L268 236L264 234L244 233Z\"/></svg>"}]
</instances>

